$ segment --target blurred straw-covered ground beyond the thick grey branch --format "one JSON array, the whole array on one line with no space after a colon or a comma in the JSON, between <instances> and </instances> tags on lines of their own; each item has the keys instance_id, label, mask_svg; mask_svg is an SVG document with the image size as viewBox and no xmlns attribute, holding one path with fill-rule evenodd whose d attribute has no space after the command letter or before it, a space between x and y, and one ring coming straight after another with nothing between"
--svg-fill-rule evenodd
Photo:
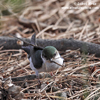
<instances>
[{"instance_id":1,"label":"blurred straw-covered ground beyond the thick grey branch","mask_svg":"<svg viewBox=\"0 0 100 100\"><path fill-rule=\"evenodd\" d=\"M0 0L0 36L100 43L99 0Z\"/></svg>"}]
</instances>

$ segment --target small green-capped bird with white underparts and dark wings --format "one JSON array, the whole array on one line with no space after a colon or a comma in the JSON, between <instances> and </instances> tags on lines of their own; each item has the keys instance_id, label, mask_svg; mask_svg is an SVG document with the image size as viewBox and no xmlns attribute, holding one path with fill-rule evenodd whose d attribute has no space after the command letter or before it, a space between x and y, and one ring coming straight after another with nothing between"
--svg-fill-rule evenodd
<instances>
[{"instance_id":1,"label":"small green-capped bird with white underparts and dark wings","mask_svg":"<svg viewBox=\"0 0 100 100\"><path fill-rule=\"evenodd\" d=\"M30 68L35 71L38 79L40 72L52 72L62 67L64 59L54 46L44 48L37 46L36 34L32 35L30 44L29 46L22 46L22 49L27 53Z\"/></svg>"}]
</instances>

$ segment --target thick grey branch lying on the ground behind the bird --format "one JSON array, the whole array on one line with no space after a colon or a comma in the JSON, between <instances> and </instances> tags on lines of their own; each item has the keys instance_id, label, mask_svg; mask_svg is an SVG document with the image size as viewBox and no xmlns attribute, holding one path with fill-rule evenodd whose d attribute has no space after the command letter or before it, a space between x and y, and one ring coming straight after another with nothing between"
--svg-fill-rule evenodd
<instances>
[{"instance_id":1,"label":"thick grey branch lying on the ground behind the bird","mask_svg":"<svg viewBox=\"0 0 100 100\"><path fill-rule=\"evenodd\" d=\"M22 38L27 42L30 42L30 39ZM5 43L6 42L6 43ZM3 44L3 49L21 49L21 46L17 44L16 38L11 37L0 37L0 44ZM24 44L26 45L26 44ZM95 56L100 57L100 45L83 42L73 39L59 39L59 40L43 40L37 39L37 45L40 47L45 47L48 45L56 47L59 51L65 51L68 49L77 50L80 48L81 52L95 54Z\"/></svg>"}]
</instances>

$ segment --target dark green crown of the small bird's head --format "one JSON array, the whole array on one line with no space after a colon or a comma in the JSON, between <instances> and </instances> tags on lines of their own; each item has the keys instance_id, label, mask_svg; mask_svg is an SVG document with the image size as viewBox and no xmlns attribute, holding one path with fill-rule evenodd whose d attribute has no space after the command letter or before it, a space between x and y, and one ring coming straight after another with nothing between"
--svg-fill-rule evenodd
<instances>
[{"instance_id":1,"label":"dark green crown of the small bird's head","mask_svg":"<svg viewBox=\"0 0 100 100\"><path fill-rule=\"evenodd\" d=\"M50 61L52 58L55 58L57 54L58 54L58 51L53 46L46 46L42 51L42 57Z\"/></svg>"}]
</instances>

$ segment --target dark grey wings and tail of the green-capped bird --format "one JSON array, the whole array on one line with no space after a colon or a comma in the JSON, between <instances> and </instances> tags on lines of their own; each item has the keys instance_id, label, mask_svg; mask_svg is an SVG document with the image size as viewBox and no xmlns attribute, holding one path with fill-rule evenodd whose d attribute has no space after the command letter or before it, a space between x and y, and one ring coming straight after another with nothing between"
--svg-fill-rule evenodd
<instances>
[{"instance_id":1,"label":"dark grey wings and tail of the green-capped bird","mask_svg":"<svg viewBox=\"0 0 100 100\"><path fill-rule=\"evenodd\" d=\"M33 45L22 46L22 49L28 54L28 58L31 57L34 67L39 69L42 67L43 63L41 58L41 53L43 48L38 47L36 45L36 34L32 35L31 44L33 44L34 46Z\"/></svg>"}]
</instances>

